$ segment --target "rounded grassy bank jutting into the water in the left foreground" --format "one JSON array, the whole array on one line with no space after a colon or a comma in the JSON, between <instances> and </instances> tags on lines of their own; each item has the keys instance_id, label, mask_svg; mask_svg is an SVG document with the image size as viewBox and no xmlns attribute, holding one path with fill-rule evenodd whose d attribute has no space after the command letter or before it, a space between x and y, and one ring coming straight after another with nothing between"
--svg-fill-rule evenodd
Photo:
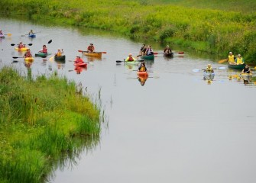
<instances>
[{"instance_id":1,"label":"rounded grassy bank jutting into the water in the left foreground","mask_svg":"<svg viewBox=\"0 0 256 183\"><path fill-rule=\"evenodd\" d=\"M0 71L0 182L42 182L67 156L95 147L100 128L99 108L74 82Z\"/></svg>"}]
</instances>

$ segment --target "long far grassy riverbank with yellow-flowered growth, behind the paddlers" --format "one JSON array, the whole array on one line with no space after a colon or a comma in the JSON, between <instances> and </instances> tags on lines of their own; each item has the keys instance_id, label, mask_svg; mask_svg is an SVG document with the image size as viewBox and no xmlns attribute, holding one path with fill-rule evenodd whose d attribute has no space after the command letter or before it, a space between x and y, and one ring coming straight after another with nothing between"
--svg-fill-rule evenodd
<instances>
[{"instance_id":1,"label":"long far grassy riverbank with yellow-flowered growth, behind the paddlers","mask_svg":"<svg viewBox=\"0 0 256 183\"><path fill-rule=\"evenodd\" d=\"M240 53L247 63L256 63L256 13L248 8L255 7L255 2L249 6L249 0L239 1L242 11L234 3L219 0L212 4L199 0L161 2L2 0L0 9L37 21L115 30L133 38L175 43L223 57L232 51Z\"/></svg>"}]
</instances>

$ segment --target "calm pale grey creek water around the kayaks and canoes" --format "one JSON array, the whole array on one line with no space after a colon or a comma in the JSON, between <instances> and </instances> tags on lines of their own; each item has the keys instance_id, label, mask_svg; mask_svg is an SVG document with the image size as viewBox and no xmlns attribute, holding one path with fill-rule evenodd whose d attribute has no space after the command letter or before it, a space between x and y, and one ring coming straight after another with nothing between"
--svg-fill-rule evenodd
<instances>
[{"instance_id":1,"label":"calm pale grey creek water around the kayaks and canoes","mask_svg":"<svg viewBox=\"0 0 256 183\"><path fill-rule=\"evenodd\" d=\"M173 48L165 58L163 45L151 44L159 54L146 61L144 85L134 71L138 66L116 63L128 53L138 55L142 41L112 32L53 27L0 19L0 67L12 66L26 75L50 74L81 82L86 93L101 93L108 127L102 128L99 146L83 152L76 163L57 168L50 182L255 182L256 87L243 79L228 79L241 71L228 69L218 58ZM37 37L21 37L34 30ZM50 53L63 48L66 62L36 57L30 68L11 43L33 43L37 53L47 44ZM145 42L145 41L144 41ZM94 43L102 58L86 57L87 69L75 70L73 60ZM175 52L185 51L184 54ZM219 58L223 59L223 58ZM203 79L211 63L214 79ZM225 69L219 67L225 66ZM194 69L199 69L194 70ZM196 72L195 72L196 71Z\"/></svg>"}]
</instances>

